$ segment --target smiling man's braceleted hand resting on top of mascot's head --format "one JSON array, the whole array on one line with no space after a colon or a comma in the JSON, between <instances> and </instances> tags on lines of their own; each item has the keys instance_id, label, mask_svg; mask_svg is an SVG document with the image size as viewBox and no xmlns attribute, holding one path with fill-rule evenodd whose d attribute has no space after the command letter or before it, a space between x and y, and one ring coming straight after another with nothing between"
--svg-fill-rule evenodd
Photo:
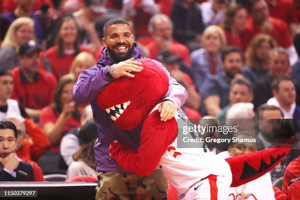
<instances>
[{"instance_id":1,"label":"smiling man's braceleted hand resting on top of mascot's head","mask_svg":"<svg viewBox=\"0 0 300 200\"><path fill-rule=\"evenodd\" d=\"M128 60L119 62L116 64L115 67L115 74L117 77L121 76L128 76L128 77L134 77L134 75L130 74L129 72L141 72L143 69L142 66L140 66L142 63L137 62L133 60L134 58L130 58Z\"/></svg>"}]
</instances>

